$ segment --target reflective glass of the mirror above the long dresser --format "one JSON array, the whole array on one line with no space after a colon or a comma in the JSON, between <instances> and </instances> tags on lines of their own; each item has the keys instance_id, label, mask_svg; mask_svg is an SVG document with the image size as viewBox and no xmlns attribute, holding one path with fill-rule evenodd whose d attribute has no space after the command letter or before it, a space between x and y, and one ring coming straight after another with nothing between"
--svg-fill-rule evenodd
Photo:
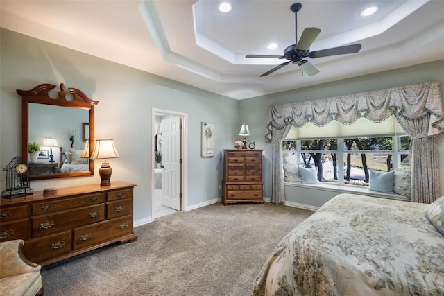
<instances>
[{"instance_id":1,"label":"reflective glass of the mirror above the long dresser","mask_svg":"<svg viewBox=\"0 0 444 296\"><path fill-rule=\"evenodd\" d=\"M89 124L89 110L29 104L29 143L40 146L37 159L28 159L31 175L89 171L87 158L80 155L85 148L83 124ZM44 139L56 139L56 146L45 146ZM53 150L53 162L51 162Z\"/></svg>"}]
</instances>

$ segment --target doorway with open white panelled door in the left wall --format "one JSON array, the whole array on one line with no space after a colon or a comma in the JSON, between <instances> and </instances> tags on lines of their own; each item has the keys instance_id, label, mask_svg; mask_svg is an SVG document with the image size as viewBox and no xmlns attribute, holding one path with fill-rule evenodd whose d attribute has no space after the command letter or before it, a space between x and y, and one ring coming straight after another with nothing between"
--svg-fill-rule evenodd
<instances>
[{"instance_id":1,"label":"doorway with open white panelled door in the left wall","mask_svg":"<svg viewBox=\"0 0 444 296\"><path fill-rule=\"evenodd\" d=\"M186 211L187 114L153 108L151 217Z\"/></svg>"}]
</instances>

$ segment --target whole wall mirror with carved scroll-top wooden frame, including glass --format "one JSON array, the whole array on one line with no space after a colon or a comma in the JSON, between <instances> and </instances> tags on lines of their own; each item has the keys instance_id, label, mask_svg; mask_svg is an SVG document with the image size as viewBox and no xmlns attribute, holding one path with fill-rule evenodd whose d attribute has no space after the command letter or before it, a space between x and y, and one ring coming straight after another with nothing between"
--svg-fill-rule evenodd
<instances>
[{"instance_id":1,"label":"whole wall mirror with carved scroll-top wooden frame, including glass","mask_svg":"<svg viewBox=\"0 0 444 296\"><path fill-rule=\"evenodd\" d=\"M78 89L65 92L63 83L60 91L55 88L43 84L17 89L22 96L22 158L30 167L30 180L94 175L89 151L94 145L94 106L99 102ZM37 144L37 151L30 152L30 143Z\"/></svg>"}]
</instances>

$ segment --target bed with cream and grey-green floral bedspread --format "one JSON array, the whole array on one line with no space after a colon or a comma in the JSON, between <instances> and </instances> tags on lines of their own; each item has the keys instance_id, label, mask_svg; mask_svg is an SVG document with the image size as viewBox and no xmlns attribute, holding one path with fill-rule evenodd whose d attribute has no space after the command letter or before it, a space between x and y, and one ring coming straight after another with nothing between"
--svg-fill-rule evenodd
<instances>
[{"instance_id":1,"label":"bed with cream and grey-green floral bedspread","mask_svg":"<svg viewBox=\"0 0 444 296\"><path fill-rule=\"evenodd\" d=\"M275 247L253 295L442 296L444 225L427 220L432 206L336 195Z\"/></svg>"}]
</instances>

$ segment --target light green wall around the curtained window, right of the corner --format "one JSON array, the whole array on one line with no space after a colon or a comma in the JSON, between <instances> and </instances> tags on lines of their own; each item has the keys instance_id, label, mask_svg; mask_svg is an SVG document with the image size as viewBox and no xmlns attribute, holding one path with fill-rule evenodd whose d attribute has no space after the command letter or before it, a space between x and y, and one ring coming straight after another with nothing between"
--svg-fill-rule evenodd
<instances>
[{"instance_id":1,"label":"light green wall around the curtained window, right of the corner","mask_svg":"<svg viewBox=\"0 0 444 296\"><path fill-rule=\"evenodd\" d=\"M386 89L402 85L411 85L431 80L441 82L443 92L444 82L444 60L429 62L412 67L405 67L393 71L385 71L366 76L359 76L346 80L305 87L288 92L271 94L257 98L250 98L239 102L239 114L244 116L248 123L250 132L257 143L257 148L265 149L264 155L264 179L265 193L269 197L271 193L271 144L265 143L264 134L266 126L266 112L268 106L282 105L297 101L315 100L317 98L329 98L357 92L366 92L376 89ZM322 69L321 69L322 71ZM340 71L340 69L338 69ZM322 72L318 75L322 75ZM266 79L266 78L265 78ZM297 78L295 78L297 79ZM443 92L444 94L444 92ZM254 131L252 131L252 128ZM440 169L444 169L444 137L438 137ZM330 200L332 193L316 189L302 189L300 187L288 186L285 189L286 200L300 204L308 204L318 207L326 200ZM444 173L441 173L441 195L444 195Z\"/></svg>"}]
</instances>

